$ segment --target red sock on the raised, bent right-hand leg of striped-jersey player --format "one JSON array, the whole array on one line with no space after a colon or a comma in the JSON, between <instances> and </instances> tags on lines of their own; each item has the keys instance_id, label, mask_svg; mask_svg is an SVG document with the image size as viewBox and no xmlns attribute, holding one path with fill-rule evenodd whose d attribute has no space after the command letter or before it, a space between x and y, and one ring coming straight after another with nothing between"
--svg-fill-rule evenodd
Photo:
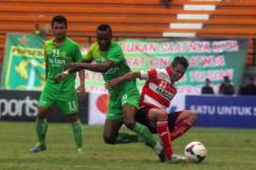
<instances>
[{"instance_id":1,"label":"red sock on the raised, bent right-hand leg of striped-jersey player","mask_svg":"<svg viewBox=\"0 0 256 170\"><path fill-rule=\"evenodd\" d=\"M185 134L192 125L193 125L193 123L191 123L188 120L182 120L182 121L178 122L174 126L173 131L171 131L172 140L176 139L180 135Z\"/></svg>"}]
</instances>

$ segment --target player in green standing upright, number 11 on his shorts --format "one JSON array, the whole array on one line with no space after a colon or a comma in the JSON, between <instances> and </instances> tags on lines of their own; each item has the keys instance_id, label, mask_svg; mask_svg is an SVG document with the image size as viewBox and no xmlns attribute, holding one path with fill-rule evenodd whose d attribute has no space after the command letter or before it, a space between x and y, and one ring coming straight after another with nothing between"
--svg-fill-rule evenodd
<instances>
[{"instance_id":1,"label":"player in green standing upright, number 11 on his shorts","mask_svg":"<svg viewBox=\"0 0 256 170\"><path fill-rule=\"evenodd\" d=\"M75 74L68 75L61 83L56 83L54 77L64 70L64 66L83 60L80 46L67 37L67 19L64 16L55 16L52 21L54 38L45 42L44 54L46 62L46 84L40 94L38 102L38 117L36 129L38 144L30 149L36 153L46 149L45 135L47 132L46 115L53 105L60 107L71 122L77 150L82 153L83 129L78 116L78 96L75 89ZM84 71L79 72L79 95L84 94Z\"/></svg>"}]
</instances>

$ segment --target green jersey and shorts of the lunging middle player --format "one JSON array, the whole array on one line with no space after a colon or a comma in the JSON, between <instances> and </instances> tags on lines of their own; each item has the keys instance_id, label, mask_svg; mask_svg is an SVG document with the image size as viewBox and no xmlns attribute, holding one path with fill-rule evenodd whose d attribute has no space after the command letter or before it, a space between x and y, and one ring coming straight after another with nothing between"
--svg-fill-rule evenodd
<instances>
[{"instance_id":1,"label":"green jersey and shorts of the lunging middle player","mask_svg":"<svg viewBox=\"0 0 256 170\"><path fill-rule=\"evenodd\" d=\"M104 63L106 60L113 62L114 66L109 69L102 76L105 81L125 75L130 72L125 55L120 45L112 42L109 50L99 50L98 43L91 46L90 50L85 56L85 60L95 61L96 63ZM132 105L138 106L140 99L140 92L136 87L135 80L124 81L109 89L110 103L107 114L107 120L120 120L123 118L123 106Z\"/></svg>"}]
</instances>

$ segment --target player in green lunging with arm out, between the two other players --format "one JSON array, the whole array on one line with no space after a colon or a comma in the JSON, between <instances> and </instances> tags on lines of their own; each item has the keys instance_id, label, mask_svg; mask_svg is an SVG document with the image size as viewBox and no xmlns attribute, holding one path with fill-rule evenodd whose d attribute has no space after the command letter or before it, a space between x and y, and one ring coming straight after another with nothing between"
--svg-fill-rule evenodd
<instances>
[{"instance_id":1,"label":"player in green lunging with arm out, between the two other players","mask_svg":"<svg viewBox=\"0 0 256 170\"><path fill-rule=\"evenodd\" d=\"M97 29L97 40L93 44L80 64L68 64L68 70L59 74L56 81L67 75L87 69L102 73L107 82L113 78L125 75L130 71L123 50L120 45L112 41L112 28L108 24L101 24ZM92 62L95 63L92 63ZM160 161L164 159L162 146L155 140L148 128L134 120L140 100L140 92L136 81L130 80L120 83L108 90L110 93L109 110L104 124L104 141L115 144L119 129L124 123L128 129L141 135L146 144L155 149Z\"/></svg>"}]
</instances>

